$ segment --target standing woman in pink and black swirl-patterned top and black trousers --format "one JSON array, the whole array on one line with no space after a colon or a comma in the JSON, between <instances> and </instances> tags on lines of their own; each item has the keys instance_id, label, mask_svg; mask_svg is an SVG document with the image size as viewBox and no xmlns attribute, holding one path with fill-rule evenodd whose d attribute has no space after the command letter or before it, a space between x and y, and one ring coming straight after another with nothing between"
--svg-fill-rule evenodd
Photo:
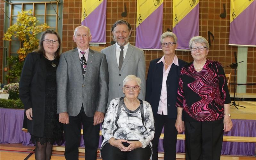
<instances>
[{"instance_id":1,"label":"standing woman in pink and black swirl-patterned top and black trousers","mask_svg":"<svg viewBox=\"0 0 256 160\"><path fill-rule=\"evenodd\" d=\"M194 61L181 69L175 126L178 132L185 127L187 160L217 160L223 131L232 128L226 77L218 61L206 59L209 44L204 37L193 37L189 47Z\"/></svg>"}]
</instances>

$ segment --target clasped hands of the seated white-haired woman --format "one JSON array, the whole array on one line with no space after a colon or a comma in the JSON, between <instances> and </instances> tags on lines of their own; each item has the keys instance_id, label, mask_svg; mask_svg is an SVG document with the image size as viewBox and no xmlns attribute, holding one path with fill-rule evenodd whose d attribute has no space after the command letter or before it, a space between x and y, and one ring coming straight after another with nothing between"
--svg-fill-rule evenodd
<instances>
[{"instance_id":1,"label":"clasped hands of the seated white-haired woman","mask_svg":"<svg viewBox=\"0 0 256 160\"><path fill-rule=\"evenodd\" d=\"M122 142L127 142L129 143L130 145L128 147L125 147ZM111 146L114 146L116 148L119 148L121 151L123 152L128 152L128 151L132 151L136 148L140 148L142 147L142 144L140 141L128 141L128 140L123 140L123 139L119 139L119 140L116 140L114 138L111 138L109 140L109 144Z\"/></svg>"}]
</instances>

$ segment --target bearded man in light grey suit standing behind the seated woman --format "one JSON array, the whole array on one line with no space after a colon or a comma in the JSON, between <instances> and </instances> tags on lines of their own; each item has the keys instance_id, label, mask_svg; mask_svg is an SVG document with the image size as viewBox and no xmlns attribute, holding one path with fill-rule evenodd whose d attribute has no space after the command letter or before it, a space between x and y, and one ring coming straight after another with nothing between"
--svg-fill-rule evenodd
<instances>
[{"instance_id":1,"label":"bearded man in light grey suit standing behind the seated woman","mask_svg":"<svg viewBox=\"0 0 256 160\"><path fill-rule=\"evenodd\" d=\"M131 25L125 20L116 21L111 32L115 44L104 48L101 52L106 54L109 72L109 97L110 101L117 97L123 97L123 80L128 75L135 75L141 79L141 92L139 99L145 100L146 80L145 80L145 57L144 52L131 45Z\"/></svg>"}]
</instances>

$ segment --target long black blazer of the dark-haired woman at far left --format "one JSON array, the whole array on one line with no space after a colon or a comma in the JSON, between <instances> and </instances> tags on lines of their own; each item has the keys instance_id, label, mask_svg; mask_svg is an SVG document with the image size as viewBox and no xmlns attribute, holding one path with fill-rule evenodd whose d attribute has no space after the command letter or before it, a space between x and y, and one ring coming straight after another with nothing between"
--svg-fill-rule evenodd
<instances>
[{"instance_id":1,"label":"long black blazer of the dark-haired woman at far left","mask_svg":"<svg viewBox=\"0 0 256 160\"><path fill-rule=\"evenodd\" d=\"M23 128L34 136L42 137L45 119L46 64L43 54L37 52L26 56L19 84L19 96L24 109L32 108L33 120L24 111Z\"/></svg>"}]
</instances>

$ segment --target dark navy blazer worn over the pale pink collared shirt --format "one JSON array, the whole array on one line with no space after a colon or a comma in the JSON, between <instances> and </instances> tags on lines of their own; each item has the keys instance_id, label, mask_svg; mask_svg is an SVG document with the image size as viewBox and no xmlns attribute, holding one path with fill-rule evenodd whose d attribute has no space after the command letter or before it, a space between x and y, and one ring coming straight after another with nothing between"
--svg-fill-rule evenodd
<instances>
[{"instance_id":1,"label":"dark navy blazer worn over the pale pink collared shirt","mask_svg":"<svg viewBox=\"0 0 256 160\"><path fill-rule=\"evenodd\" d=\"M164 64L163 62L157 63L160 59L161 58L150 61L146 80L146 101L150 103L154 116L157 115L163 81ZM168 118L177 118L177 108L175 106L177 100L179 74L181 68L186 63L187 62L178 59L179 66L172 64L167 76L166 86Z\"/></svg>"}]
</instances>

